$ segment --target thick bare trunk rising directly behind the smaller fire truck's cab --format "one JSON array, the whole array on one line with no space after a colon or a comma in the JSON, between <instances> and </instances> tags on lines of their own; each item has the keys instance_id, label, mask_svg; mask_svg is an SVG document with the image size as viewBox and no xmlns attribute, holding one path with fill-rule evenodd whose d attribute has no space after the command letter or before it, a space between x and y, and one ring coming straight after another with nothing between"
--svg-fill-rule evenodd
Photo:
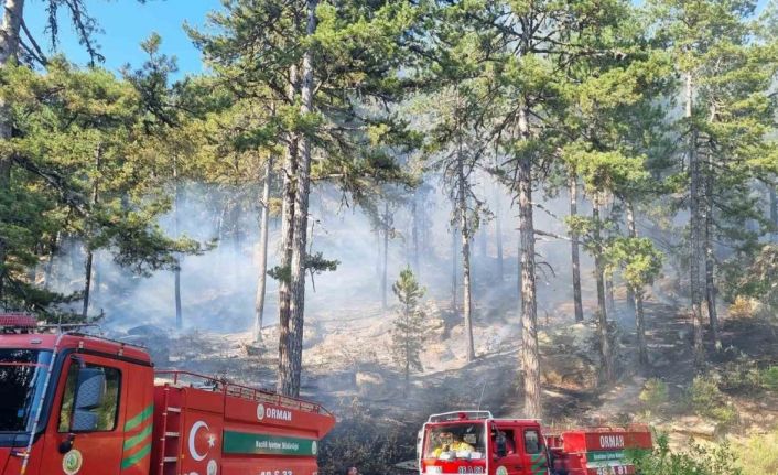
<instances>
[{"instance_id":1,"label":"thick bare trunk rising directly behind the smaller fire truck's cab","mask_svg":"<svg viewBox=\"0 0 778 475\"><path fill-rule=\"evenodd\" d=\"M519 109L519 133L529 140L529 111ZM525 376L525 417L542 415L540 352L538 349L538 304L534 279L534 224L532 222L532 159L518 162L519 230L521 233L521 367Z\"/></svg>"}]
</instances>

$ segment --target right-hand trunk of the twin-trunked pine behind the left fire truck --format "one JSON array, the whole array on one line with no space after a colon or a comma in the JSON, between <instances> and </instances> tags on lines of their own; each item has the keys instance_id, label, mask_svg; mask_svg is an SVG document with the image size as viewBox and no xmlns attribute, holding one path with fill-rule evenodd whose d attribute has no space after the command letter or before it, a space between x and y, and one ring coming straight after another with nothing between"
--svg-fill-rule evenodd
<instances>
[{"instance_id":1,"label":"right-hand trunk of the twin-trunked pine behind the left fire truck","mask_svg":"<svg viewBox=\"0 0 778 475\"><path fill-rule=\"evenodd\" d=\"M307 0L306 35L311 37L316 30L316 6L318 0ZM313 51L309 48L303 55L302 105L303 117L313 112ZM284 395L300 396L300 377L303 357L303 326L305 315L305 259L307 244L307 209L311 191L311 155L313 141L304 136L302 140L300 165L298 166L298 183L294 195L294 218L292 239L291 299L290 299L290 336L292 352L290 355L291 378Z\"/></svg>"}]
</instances>

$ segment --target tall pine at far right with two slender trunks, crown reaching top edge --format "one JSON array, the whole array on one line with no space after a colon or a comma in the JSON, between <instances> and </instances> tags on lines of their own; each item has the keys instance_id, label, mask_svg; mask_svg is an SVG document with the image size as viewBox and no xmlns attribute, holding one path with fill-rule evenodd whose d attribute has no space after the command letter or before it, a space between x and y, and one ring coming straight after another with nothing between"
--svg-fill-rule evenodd
<instances>
[{"instance_id":1,"label":"tall pine at far right with two slender trunks, crown reaching top edge","mask_svg":"<svg viewBox=\"0 0 778 475\"><path fill-rule=\"evenodd\" d=\"M743 233L753 216L749 181L772 172L764 156L765 132L775 118L768 89L775 74L775 48L755 41L749 0L648 2L655 40L672 55L683 78L685 139L680 173L688 179L689 262L694 356L705 360L703 299L713 346L721 346L716 313L713 241L717 235L735 247L755 239ZM758 162L758 165L757 165ZM767 166L765 166L767 165ZM733 213L735 210L735 213Z\"/></svg>"}]
</instances>

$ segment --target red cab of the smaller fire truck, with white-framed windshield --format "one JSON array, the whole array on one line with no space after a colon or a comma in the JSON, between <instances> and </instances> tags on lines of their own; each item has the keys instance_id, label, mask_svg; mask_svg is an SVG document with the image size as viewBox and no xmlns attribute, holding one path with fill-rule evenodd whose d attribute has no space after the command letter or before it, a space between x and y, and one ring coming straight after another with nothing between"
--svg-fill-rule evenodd
<instances>
[{"instance_id":1,"label":"red cab of the smaller fire truck, with white-framed windshield","mask_svg":"<svg viewBox=\"0 0 778 475\"><path fill-rule=\"evenodd\" d=\"M433 414L419 438L423 474L540 475L549 469L540 421L488 411Z\"/></svg>"}]
</instances>

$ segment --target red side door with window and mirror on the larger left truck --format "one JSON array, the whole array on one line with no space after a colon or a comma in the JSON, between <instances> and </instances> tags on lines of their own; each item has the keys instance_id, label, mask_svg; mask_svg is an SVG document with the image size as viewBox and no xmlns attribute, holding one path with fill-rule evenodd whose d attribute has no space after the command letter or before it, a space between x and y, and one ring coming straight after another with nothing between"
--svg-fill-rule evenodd
<instances>
[{"instance_id":1,"label":"red side door with window and mirror on the larger left truck","mask_svg":"<svg viewBox=\"0 0 778 475\"><path fill-rule=\"evenodd\" d=\"M42 474L119 474L127 366L84 354L65 360L48 421Z\"/></svg>"}]
</instances>

